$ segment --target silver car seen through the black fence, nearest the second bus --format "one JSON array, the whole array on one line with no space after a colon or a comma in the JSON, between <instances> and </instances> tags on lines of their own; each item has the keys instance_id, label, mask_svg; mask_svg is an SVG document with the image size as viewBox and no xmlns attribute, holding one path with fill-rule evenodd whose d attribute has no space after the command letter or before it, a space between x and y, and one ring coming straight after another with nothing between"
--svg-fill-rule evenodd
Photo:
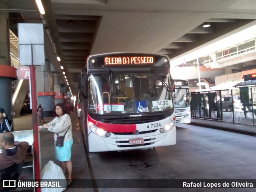
<instances>
[{"instance_id":1,"label":"silver car seen through the black fence, nearest the second bus","mask_svg":"<svg viewBox=\"0 0 256 192\"><path fill-rule=\"evenodd\" d=\"M233 111L234 110L233 106L235 109L242 108L240 96L233 96L233 100L232 100L232 97L222 97L221 100L222 100L222 110ZM218 106L218 110L220 110L220 100L217 101L217 106Z\"/></svg>"}]
</instances>

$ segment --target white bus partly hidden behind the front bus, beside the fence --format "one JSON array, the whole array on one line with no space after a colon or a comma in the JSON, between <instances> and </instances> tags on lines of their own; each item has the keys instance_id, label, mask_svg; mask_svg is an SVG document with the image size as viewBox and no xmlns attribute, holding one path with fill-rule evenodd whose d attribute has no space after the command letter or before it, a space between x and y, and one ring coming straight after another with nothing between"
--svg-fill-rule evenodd
<instances>
[{"instance_id":1,"label":"white bus partly hidden behind the front bus, beside the fence","mask_svg":"<svg viewBox=\"0 0 256 192\"><path fill-rule=\"evenodd\" d=\"M174 110L176 117L176 124L190 123L190 93L188 87L188 80L173 79L175 85L174 92Z\"/></svg>"}]
</instances>

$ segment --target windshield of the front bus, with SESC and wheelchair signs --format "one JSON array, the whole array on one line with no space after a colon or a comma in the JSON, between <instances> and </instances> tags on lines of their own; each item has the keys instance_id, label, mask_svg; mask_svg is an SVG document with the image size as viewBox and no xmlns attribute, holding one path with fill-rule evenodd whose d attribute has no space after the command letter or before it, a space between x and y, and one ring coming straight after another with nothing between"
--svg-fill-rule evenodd
<instances>
[{"instance_id":1,"label":"windshield of the front bus, with SESC and wheelchair signs","mask_svg":"<svg viewBox=\"0 0 256 192\"><path fill-rule=\"evenodd\" d=\"M110 115L170 110L171 82L168 72L90 74L88 110Z\"/></svg>"}]
</instances>

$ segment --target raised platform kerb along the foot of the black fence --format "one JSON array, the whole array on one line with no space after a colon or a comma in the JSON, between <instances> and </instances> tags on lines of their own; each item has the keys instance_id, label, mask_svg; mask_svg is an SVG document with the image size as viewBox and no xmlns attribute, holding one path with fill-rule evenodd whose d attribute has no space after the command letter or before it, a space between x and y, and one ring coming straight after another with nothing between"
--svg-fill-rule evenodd
<instances>
[{"instance_id":1,"label":"raised platform kerb along the foot of the black fence","mask_svg":"<svg viewBox=\"0 0 256 192\"><path fill-rule=\"evenodd\" d=\"M256 125L191 118L191 125L256 136Z\"/></svg>"}]
</instances>

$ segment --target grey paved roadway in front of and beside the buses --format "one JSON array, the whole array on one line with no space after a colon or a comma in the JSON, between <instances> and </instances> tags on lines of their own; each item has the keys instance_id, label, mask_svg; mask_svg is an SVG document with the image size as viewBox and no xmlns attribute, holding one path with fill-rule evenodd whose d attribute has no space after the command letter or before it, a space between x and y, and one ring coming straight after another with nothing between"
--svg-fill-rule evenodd
<instances>
[{"instance_id":1,"label":"grey paved roadway in front of and beside the buses","mask_svg":"<svg viewBox=\"0 0 256 192\"><path fill-rule=\"evenodd\" d=\"M95 179L256 179L256 138L182 124L177 144L146 151L90 153ZM94 191L120 191L96 189ZM122 191L156 191L129 189ZM172 188L157 191L255 191L248 188Z\"/></svg>"}]
</instances>

